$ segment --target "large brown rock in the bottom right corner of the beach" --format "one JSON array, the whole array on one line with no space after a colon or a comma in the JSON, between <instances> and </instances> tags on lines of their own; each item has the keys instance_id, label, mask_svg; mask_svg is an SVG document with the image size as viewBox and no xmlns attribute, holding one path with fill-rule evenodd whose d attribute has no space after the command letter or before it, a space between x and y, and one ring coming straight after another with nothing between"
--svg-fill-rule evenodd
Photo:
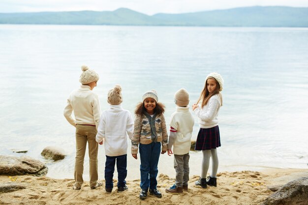
<instances>
[{"instance_id":1,"label":"large brown rock in the bottom right corner of the beach","mask_svg":"<svg viewBox=\"0 0 308 205\"><path fill-rule=\"evenodd\" d=\"M262 205L308 205L308 177L285 184Z\"/></svg>"}]
</instances>

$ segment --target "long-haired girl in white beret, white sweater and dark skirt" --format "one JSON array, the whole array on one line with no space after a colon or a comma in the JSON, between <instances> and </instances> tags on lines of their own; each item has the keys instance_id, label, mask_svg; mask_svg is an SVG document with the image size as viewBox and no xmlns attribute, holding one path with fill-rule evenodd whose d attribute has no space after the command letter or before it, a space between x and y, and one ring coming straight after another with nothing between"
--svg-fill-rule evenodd
<instances>
[{"instance_id":1,"label":"long-haired girl in white beret, white sweater and dark skirt","mask_svg":"<svg viewBox=\"0 0 308 205\"><path fill-rule=\"evenodd\" d=\"M205 79L205 85L197 103L192 106L192 110L199 118L200 126L195 150L202 150L203 153L201 176L195 184L202 188L207 188L207 185L217 186L218 157L216 148L221 146L217 116L219 108L222 106L220 93L222 87L222 77L218 73L210 73ZM211 156L212 173L206 178Z\"/></svg>"}]
</instances>

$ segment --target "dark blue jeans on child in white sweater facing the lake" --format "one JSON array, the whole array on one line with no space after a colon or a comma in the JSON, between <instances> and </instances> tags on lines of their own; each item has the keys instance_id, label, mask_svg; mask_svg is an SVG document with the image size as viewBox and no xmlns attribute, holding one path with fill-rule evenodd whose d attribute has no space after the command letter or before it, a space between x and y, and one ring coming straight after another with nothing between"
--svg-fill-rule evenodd
<instances>
[{"instance_id":1,"label":"dark blue jeans on child in white sweater facing the lake","mask_svg":"<svg viewBox=\"0 0 308 205\"><path fill-rule=\"evenodd\" d=\"M127 176L127 154L121 156L110 157L106 155L105 164L105 180L106 188L113 188L113 173L115 172L115 164L117 160L117 170L118 170L118 188L123 187L126 184L125 178Z\"/></svg>"}]
</instances>

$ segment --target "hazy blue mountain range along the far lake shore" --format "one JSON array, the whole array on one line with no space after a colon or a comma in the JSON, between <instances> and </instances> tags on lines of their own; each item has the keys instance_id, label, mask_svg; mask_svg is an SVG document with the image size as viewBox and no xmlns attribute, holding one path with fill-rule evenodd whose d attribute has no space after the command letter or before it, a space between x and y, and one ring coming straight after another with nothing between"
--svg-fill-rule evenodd
<instances>
[{"instance_id":1,"label":"hazy blue mountain range along the far lake shore","mask_svg":"<svg viewBox=\"0 0 308 205\"><path fill-rule=\"evenodd\" d=\"M115 11L0 13L0 24L308 27L308 8L252 6L153 16L127 8Z\"/></svg>"}]
</instances>

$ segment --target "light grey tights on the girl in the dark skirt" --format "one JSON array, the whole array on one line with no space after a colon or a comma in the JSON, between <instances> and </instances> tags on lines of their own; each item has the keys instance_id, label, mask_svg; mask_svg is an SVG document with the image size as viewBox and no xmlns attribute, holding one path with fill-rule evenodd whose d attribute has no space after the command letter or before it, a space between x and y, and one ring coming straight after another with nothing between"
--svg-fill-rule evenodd
<instances>
[{"instance_id":1,"label":"light grey tights on the girl in the dark skirt","mask_svg":"<svg viewBox=\"0 0 308 205\"><path fill-rule=\"evenodd\" d=\"M211 177L216 178L217 170L218 170L218 157L217 150L202 150L203 158L202 158L202 169L201 169L201 178L206 178L209 166L210 166L210 157L212 155L212 173Z\"/></svg>"}]
</instances>

